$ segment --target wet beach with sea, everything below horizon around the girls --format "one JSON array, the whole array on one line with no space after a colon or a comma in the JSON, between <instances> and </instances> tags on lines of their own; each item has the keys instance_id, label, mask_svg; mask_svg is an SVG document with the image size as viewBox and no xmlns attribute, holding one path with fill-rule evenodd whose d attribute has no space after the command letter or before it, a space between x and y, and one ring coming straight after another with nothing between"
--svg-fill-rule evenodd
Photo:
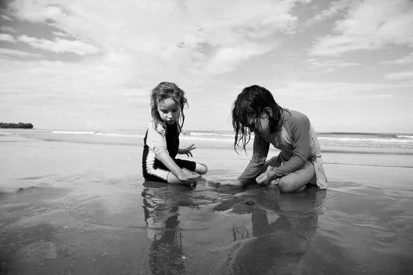
<instances>
[{"instance_id":1,"label":"wet beach with sea, everything below horizon around the girls","mask_svg":"<svg viewBox=\"0 0 413 275\"><path fill-rule=\"evenodd\" d=\"M320 134L327 190L285 195L188 132L192 188L144 182L145 130L1 129L0 274L413 274L412 135Z\"/></svg>"}]
</instances>

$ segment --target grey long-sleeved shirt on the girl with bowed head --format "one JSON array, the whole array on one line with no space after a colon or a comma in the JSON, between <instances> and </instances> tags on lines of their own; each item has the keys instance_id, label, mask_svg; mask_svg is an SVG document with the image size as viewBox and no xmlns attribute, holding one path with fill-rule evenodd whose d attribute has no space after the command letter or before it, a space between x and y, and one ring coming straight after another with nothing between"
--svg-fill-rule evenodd
<instances>
[{"instance_id":1,"label":"grey long-sleeved shirt on the girl with bowed head","mask_svg":"<svg viewBox=\"0 0 413 275\"><path fill-rule=\"evenodd\" d=\"M281 151L276 160L278 167L275 168L275 175L277 177L299 170L307 160L321 157L317 135L306 115L288 110L282 114L281 121L282 129L277 133L270 133L265 139L255 134L253 157L244 173L238 177L242 184L246 185L251 179L257 177L266 161L270 144Z\"/></svg>"}]
</instances>

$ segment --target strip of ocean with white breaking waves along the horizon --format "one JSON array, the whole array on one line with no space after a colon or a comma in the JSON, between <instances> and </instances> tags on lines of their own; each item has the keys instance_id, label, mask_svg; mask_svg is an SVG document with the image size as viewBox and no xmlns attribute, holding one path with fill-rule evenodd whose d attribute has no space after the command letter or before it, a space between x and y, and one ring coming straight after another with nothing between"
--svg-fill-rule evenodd
<instances>
[{"instance_id":1,"label":"strip of ocean with white breaking waves along the horizon","mask_svg":"<svg viewBox=\"0 0 413 275\"><path fill-rule=\"evenodd\" d=\"M142 146L146 130L1 129L0 135L19 135L47 142ZM324 163L413 167L412 133L317 133ZM181 146L234 150L232 131L190 131L180 135ZM246 154L251 154L253 137ZM271 148L273 154L277 149ZM195 151L196 152L196 151ZM244 152L239 152L245 155ZM270 153L271 155L271 153Z\"/></svg>"}]
</instances>

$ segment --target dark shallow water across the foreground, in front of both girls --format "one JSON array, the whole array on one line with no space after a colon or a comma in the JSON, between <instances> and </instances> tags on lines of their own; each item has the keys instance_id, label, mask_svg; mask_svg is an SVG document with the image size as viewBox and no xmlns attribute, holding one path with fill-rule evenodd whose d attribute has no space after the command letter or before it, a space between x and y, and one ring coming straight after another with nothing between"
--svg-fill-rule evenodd
<instances>
[{"instance_id":1,"label":"dark shallow water across the foreground, in front of both girls","mask_svg":"<svg viewBox=\"0 0 413 275\"><path fill-rule=\"evenodd\" d=\"M93 177L1 195L0 274L413 272L412 188L335 181L283 195Z\"/></svg>"}]
</instances>

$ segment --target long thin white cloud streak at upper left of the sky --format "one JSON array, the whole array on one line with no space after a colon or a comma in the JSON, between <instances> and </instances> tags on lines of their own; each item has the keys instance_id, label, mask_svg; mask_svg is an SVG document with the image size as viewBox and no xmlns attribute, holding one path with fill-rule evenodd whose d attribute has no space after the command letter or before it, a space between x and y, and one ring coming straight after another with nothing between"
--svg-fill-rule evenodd
<instances>
[{"instance_id":1,"label":"long thin white cloud streak at upper left of the sky","mask_svg":"<svg viewBox=\"0 0 413 275\"><path fill-rule=\"evenodd\" d=\"M90 45L83 41L70 41L66 39L61 39L59 37L54 38L54 41L46 39L36 39L35 37L29 37L26 35L19 36L19 41L28 43L30 46L47 50L50 52L74 52L75 54L85 56L87 54L97 54L99 48L94 45Z\"/></svg>"}]
</instances>

